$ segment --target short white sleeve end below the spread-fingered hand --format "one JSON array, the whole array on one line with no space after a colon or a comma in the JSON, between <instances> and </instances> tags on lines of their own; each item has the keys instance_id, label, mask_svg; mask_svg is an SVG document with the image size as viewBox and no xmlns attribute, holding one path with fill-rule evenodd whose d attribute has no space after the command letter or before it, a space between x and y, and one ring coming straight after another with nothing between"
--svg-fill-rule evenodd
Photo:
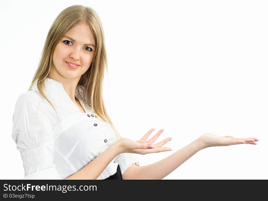
<instances>
[{"instance_id":1,"label":"short white sleeve end below the spread-fingered hand","mask_svg":"<svg viewBox=\"0 0 268 201\"><path fill-rule=\"evenodd\" d=\"M133 163L136 166L140 164L140 156L136 153L121 153L115 157L114 163L118 163L123 174Z\"/></svg>"}]
</instances>

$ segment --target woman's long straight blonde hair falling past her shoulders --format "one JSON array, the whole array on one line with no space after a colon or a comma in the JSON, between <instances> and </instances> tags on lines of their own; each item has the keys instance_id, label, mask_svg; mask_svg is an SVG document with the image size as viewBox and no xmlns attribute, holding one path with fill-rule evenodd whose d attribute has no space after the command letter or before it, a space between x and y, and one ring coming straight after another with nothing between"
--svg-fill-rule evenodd
<instances>
[{"instance_id":1,"label":"woman's long straight blonde hair falling past her shoulders","mask_svg":"<svg viewBox=\"0 0 268 201\"><path fill-rule=\"evenodd\" d=\"M86 23L93 32L96 48L93 56L93 60L90 64L89 69L81 76L77 85L81 85L85 88L85 95L81 98L84 104L91 107L94 113L105 122L109 123L117 139L122 138L118 131L115 129L107 111L104 106L104 100L102 96L102 85L104 79L105 69L107 69L107 55L104 44L104 32L101 24L101 20L97 13L90 7L85 7L83 5L72 5L64 9L55 19L50 30L48 32L44 48L41 55L41 60L39 62L38 68L33 77L30 89L33 84L37 81L37 88L40 94L46 99L50 104L51 102L44 95L44 82L46 77L50 77L51 66L53 64L53 53L55 46L58 41L63 37L63 35L72 27L80 23ZM90 97L87 98L86 96ZM54 106L51 104L54 108ZM56 111L56 109L54 108ZM56 111L57 113L57 111ZM58 114L58 113L57 113Z\"/></svg>"}]
</instances>

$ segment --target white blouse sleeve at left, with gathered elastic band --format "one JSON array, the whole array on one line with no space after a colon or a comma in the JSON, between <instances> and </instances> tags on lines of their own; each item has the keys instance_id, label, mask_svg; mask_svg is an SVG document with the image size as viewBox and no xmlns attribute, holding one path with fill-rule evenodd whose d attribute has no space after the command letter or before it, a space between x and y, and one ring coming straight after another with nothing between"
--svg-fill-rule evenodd
<instances>
[{"instance_id":1,"label":"white blouse sleeve at left, with gathered elastic band","mask_svg":"<svg viewBox=\"0 0 268 201\"><path fill-rule=\"evenodd\" d=\"M12 139L21 154L24 179L62 179L53 164L51 118L33 91L19 95L13 113Z\"/></svg>"}]
</instances>

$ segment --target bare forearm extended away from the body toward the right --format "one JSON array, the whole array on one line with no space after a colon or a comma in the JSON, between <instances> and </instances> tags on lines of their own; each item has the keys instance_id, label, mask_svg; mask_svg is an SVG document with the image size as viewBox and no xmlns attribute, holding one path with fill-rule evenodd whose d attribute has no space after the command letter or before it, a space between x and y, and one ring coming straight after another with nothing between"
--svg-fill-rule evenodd
<instances>
[{"instance_id":1,"label":"bare forearm extended away from the body toward the right","mask_svg":"<svg viewBox=\"0 0 268 201\"><path fill-rule=\"evenodd\" d=\"M205 147L198 139L176 151L172 155L155 163L136 168L129 179L163 179L195 153Z\"/></svg>"}]
</instances>

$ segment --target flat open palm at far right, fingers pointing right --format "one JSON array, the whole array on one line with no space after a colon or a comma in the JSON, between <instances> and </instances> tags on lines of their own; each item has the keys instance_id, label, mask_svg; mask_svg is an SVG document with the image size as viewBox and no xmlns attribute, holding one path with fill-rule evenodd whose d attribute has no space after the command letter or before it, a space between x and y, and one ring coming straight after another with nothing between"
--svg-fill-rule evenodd
<instances>
[{"instance_id":1,"label":"flat open palm at far right, fingers pointing right","mask_svg":"<svg viewBox=\"0 0 268 201\"><path fill-rule=\"evenodd\" d=\"M257 138L235 138L230 135L218 136L211 133L205 133L198 138L198 141L202 143L204 148L213 146L229 146L238 144L252 144L256 145Z\"/></svg>"}]
</instances>

